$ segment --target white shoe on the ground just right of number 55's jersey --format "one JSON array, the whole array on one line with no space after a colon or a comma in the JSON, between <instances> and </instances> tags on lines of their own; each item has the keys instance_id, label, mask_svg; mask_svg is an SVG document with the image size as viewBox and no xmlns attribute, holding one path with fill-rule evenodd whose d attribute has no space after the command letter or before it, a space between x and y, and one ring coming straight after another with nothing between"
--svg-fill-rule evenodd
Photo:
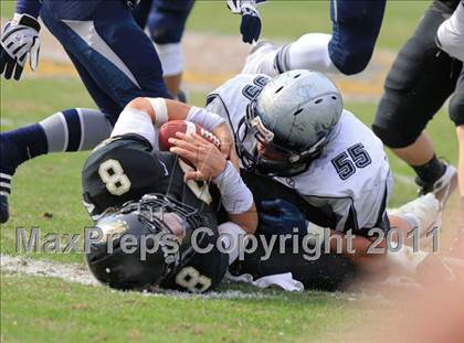
<instances>
[{"instance_id":1,"label":"white shoe on the ground just right of number 55's jersey","mask_svg":"<svg viewBox=\"0 0 464 343\"><path fill-rule=\"evenodd\" d=\"M441 224L440 202L433 193L419 196L418 199L389 211L389 214L413 217L416 222L419 236L425 237L426 233Z\"/></svg>"}]
</instances>

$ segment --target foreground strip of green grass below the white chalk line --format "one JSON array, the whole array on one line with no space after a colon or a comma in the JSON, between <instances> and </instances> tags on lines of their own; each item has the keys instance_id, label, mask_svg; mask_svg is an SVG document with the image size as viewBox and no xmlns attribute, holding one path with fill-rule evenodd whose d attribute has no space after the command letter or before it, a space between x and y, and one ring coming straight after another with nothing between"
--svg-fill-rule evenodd
<instances>
[{"instance_id":1,"label":"foreground strip of green grass below the white chalk line","mask_svg":"<svg viewBox=\"0 0 464 343\"><path fill-rule=\"evenodd\" d=\"M321 292L147 297L2 274L1 342L317 342L369 313L355 310L348 297Z\"/></svg>"}]
</instances>

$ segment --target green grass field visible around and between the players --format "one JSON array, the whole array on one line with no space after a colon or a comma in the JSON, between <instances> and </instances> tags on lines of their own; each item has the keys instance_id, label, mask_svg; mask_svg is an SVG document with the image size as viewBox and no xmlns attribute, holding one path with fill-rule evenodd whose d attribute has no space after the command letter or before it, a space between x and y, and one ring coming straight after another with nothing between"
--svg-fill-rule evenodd
<instances>
[{"instance_id":1,"label":"green grass field visible around and between the players","mask_svg":"<svg viewBox=\"0 0 464 343\"><path fill-rule=\"evenodd\" d=\"M413 30L428 2L390 1L379 46L397 50ZM272 1L263 9L264 35L294 37L310 30L329 31L328 4L317 1ZM1 17L12 11L1 1ZM212 15L214 13L214 15ZM238 18L218 1L199 1L189 30L235 34ZM57 110L94 107L78 79L29 78L1 81L1 131L41 120ZM193 93L192 103L203 104L204 94ZM375 101L348 103L367 125L372 122ZM453 126L445 111L431 122L437 154L456 162ZM440 139L445 138L445 139ZM14 229L40 227L46 233L82 233L91 224L81 203L80 171L86 152L51 154L20 168L10 197L11 219L1 226L1 254L14 255ZM411 200L414 186L404 163L390 156L400 175L391 206ZM407 176L407 178L404 178ZM84 264L80 254L34 254L60 262ZM230 290L238 297L230 296ZM171 294L123 293L102 287L68 283L59 279L1 272L1 342L24 341L335 341L337 332L350 330L371 310L361 309L349 296L307 291L260 291L224 283L212 298ZM334 329L336 328L336 330Z\"/></svg>"}]
</instances>

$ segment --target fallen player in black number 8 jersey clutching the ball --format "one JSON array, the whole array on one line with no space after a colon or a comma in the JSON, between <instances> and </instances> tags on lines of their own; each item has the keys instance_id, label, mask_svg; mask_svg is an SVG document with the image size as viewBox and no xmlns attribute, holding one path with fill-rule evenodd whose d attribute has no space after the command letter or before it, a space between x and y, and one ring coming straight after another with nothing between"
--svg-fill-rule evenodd
<instances>
[{"instance_id":1,"label":"fallen player in black number 8 jersey clutching the ball","mask_svg":"<svg viewBox=\"0 0 464 343\"><path fill-rule=\"evenodd\" d=\"M175 153L157 149L154 124L160 126L179 114L215 132L225 127L222 119L204 111L160 98L137 98L120 114L112 137L86 160L84 202L102 234L91 244L86 259L103 283L117 289L213 289L238 256L239 236L254 233L253 196L225 158L232 141L225 131L223 151L191 137L197 153L190 163L196 170ZM219 196L211 195L209 181ZM220 225L219 202L228 215ZM117 237L109 239L114 234ZM146 246L151 253L141 258L149 234L159 242L151 239ZM135 237L131 253L123 249L129 235Z\"/></svg>"}]
</instances>

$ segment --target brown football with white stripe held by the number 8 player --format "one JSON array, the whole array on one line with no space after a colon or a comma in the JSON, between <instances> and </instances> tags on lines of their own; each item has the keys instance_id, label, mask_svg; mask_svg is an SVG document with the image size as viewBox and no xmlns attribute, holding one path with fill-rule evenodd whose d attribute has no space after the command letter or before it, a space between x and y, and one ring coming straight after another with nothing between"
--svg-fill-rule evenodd
<instances>
[{"instance_id":1,"label":"brown football with white stripe held by the number 8 player","mask_svg":"<svg viewBox=\"0 0 464 343\"><path fill-rule=\"evenodd\" d=\"M183 133L194 133L197 132L208 141L212 142L218 148L221 147L221 141L214 133L208 131L207 129L202 128L198 124L193 124L188 120L172 120L164 124L159 128L159 148L162 151L169 151L171 148L171 143L169 142L169 138L176 137L176 132L183 132Z\"/></svg>"}]
</instances>

